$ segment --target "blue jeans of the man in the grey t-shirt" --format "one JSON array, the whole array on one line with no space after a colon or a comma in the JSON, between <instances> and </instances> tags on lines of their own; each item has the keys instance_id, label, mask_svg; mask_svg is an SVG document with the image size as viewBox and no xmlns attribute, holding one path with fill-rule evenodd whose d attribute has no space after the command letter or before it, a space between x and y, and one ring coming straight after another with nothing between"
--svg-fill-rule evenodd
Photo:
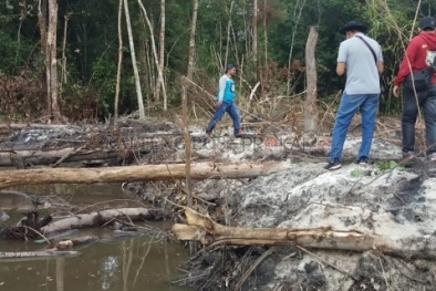
<instances>
[{"instance_id":1,"label":"blue jeans of the man in the grey t-shirt","mask_svg":"<svg viewBox=\"0 0 436 291\"><path fill-rule=\"evenodd\" d=\"M341 159L346 132L355 112L360 108L362 114L362 143L357 153L357 160L370 158L371 144L374 136L375 114L378 107L380 94L353 94L344 93L338 110L336 121L333 128L332 149L330 160Z\"/></svg>"}]
</instances>

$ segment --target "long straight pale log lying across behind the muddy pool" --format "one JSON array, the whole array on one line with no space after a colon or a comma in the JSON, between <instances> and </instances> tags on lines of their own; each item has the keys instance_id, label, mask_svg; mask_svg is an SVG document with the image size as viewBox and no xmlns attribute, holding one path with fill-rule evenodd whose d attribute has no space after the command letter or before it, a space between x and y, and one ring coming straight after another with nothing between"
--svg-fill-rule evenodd
<instances>
[{"instance_id":1,"label":"long straight pale log lying across behind the muddy pool","mask_svg":"<svg viewBox=\"0 0 436 291\"><path fill-rule=\"evenodd\" d=\"M141 165L107 168L38 168L0 172L0 189L18 185L125 183L185 179L185 164ZM193 179L255 178L284 170L289 163L241 163L191 165Z\"/></svg>"}]
</instances>

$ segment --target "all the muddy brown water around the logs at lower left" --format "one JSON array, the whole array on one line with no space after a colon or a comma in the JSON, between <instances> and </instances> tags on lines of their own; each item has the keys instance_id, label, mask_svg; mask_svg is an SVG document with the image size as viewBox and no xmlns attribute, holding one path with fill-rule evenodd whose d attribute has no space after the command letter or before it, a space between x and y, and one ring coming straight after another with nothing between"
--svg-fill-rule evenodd
<instances>
[{"instance_id":1,"label":"all the muddy brown water around the logs at lower left","mask_svg":"<svg viewBox=\"0 0 436 291\"><path fill-rule=\"evenodd\" d=\"M14 190L40 196L56 196L64 202L92 208L126 207L136 205L134 197L123 194L120 185L54 185L43 187L21 187ZM0 208L17 220L17 214L30 206L21 198L4 196ZM127 199L132 201L126 201ZM104 201L104 202L102 202ZM8 211L8 209L14 211ZM61 209L58 209L60 212ZM11 221L8 221L11 222ZM168 228L168 224L147 224ZM81 230L83 235L107 237L102 229ZM33 241L0 240L0 251L42 250L43 245ZM97 242L75 249L79 254L68 258L38 260L0 260L0 291L185 291L175 282L183 278L187 253L180 243L142 236L116 241Z\"/></svg>"}]
</instances>

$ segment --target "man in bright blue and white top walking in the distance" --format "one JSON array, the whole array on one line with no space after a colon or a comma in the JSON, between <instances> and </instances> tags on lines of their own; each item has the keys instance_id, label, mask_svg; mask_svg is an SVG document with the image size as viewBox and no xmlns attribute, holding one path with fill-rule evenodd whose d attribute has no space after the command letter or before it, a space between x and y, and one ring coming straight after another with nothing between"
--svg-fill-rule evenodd
<instances>
[{"instance_id":1,"label":"man in bright blue and white top walking in the distance","mask_svg":"<svg viewBox=\"0 0 436 291\"><path fill-rule=\"evenodd\" d=\"M210 135L215 125L221 119L222 115L227 112L233 121L235 136L242 136L243 132L240 126L239 110L235 103L235 81L236 66L228 64L225 74L219 79L219 91L217 102L215 103L215 114L206 127L206 137Z\"/></svg>"}]
</instances>

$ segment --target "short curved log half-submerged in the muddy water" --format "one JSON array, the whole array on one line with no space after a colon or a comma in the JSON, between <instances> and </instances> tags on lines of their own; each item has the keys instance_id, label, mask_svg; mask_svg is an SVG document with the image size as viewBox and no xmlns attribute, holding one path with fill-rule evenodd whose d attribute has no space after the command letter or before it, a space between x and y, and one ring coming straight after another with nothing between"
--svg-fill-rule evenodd
<instances>
[{"instance_id":1,"label":"short curved log half-submerged in the muddy water","mask_svg":"<svg viewBox=\"0 0 436 291\"><path fill-rule=\"evenodd\" d=\"M114 219L129 221L155 219L155 215L146 208L120 208L95 211L91 214L75 215L46 225L41 228L43 235L70 229L81 229L87 227L102 226Z\"/></svg>"}]
</instances>

